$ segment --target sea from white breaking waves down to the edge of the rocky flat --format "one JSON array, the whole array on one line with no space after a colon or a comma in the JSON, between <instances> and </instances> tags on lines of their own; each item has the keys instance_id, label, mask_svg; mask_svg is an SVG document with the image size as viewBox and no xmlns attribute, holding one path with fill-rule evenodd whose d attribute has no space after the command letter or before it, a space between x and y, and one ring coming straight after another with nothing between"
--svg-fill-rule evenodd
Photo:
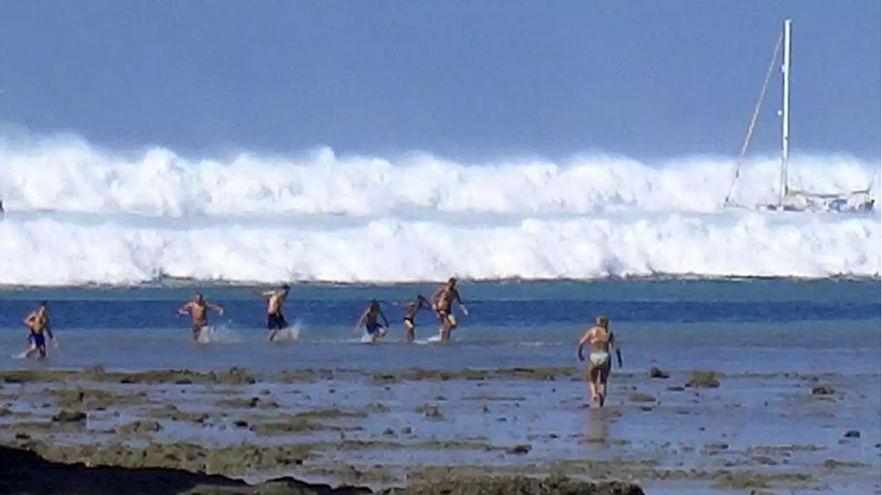
<instances>
[{"instance_id":1,"label":"sea from white breaking waves down to the edge of the rocky flat","mask_svg":"<svg viewBox=\"0 0 882 495\"><path fill-rule=\"evenodd\" d=\"M48 364L6 366L558 366L605 313L632 369L871 367L878 215L724 210L725 157L193 159L76 138L2 144L0 343L24 344L21 318L41 298L64 343ZM736 201L774 200L777 166L747 163ZM803 156L791 170L794 187L824 192L866 187L878 164ZM473 309L451 345L403 346L399 307L384 345L355 345L368 299L429 295L451 275ZM194 280L228 309L212 315L217 345L193 347L175 315ZM288 303L296 344L267 345L263 301L241 285L282 280L313 284ZM430 314L420 322L420 336L437 331Z\"/></svg>"}]
</instances>

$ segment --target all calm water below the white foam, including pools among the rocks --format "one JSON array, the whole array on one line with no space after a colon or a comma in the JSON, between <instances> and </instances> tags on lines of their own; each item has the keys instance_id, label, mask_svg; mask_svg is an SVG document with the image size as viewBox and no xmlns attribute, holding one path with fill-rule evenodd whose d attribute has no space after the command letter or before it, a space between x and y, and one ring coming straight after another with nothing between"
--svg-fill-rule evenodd
<instances>
[{"instance_id":1,"label":"all calm water below the white foam, including pools among the rocks","mask_svg":"<svg viewBox=\"0 0 882 495\"><path fill-rule=\"evenodd\" d=\"M3 367L338 370L333 380L262 380L244 387L100 385L127 392L147 390L153 403L176 403L184 411L227 415L205 424L160 419L164 429L156 433L157 440L191 438L206 445L339 443L344 438L369 442L310 459L294 471L302 477L316 474L310 469L340 463L363 469L381 463L403 479L407 469L421 465L527 469L564 461L615 461L652 462L651 467L608 469L609 476L643 473L651 493L708 490L706 479L658 479L659 469L796 469L818 480L812 486L839 492L868 492L882 483L872 474L882 454L882 448L876 447L882 442L878 283L462 284L472 315L460 318L454 341L446 345L404 344L400 308L394 306L386 306L392 331L384 343L359 344L359 334L352 328L366 299L388 302L415 292L428 295L431 287L295 287L288 301L288 320L300 323L300 335L288 344L266 343L261 300L231 287L200 289L207 299L226 307L227 314L212 315L221 342L193 344L189 322L174 315L192 290L6 292L0 300L0 345L8 355L26 344L19 321L34 300L42 298L52 301L61 347L50 348L46 361L7 358ZM586 407L586 385L578 373L553 381L405 380L386 385L370 376L373 371L407 368L581 366L576 341L599 313L610 315L625 360L623 370L614 369L609 407L604 410ZM421 314L419 322L418 336L436 331L429 314ZM649 380L646 370L651 366L669 371L671 378ZM697 369L729 375L721 378L720 388L668 389L682 386L689 370ZM817 384L830 385L837 392L827 398L813 396L811 388ZM3 394L6 400L19 397L12 401L14 411L51 415L56 408L29 406L34 401L24 399L42 387L7 384ZM632 395L638 392L654 400L635 402ZM218 403L252 396L273 400L279 407L240 410ZM370 409L377 404L382 407ZM421 409L427 405L437 407L441 417L427 417ZM332 408L366 411L367 417L328 419L344 428L288 436L262 436L231 423L248 415L265 415L258 419L269 421L280 414ZM113 410L90 417L91 432L65 433L57 440L95 441L95 430L109 431L136 418L156 416L149 408L120 407L119 416L113 416ZM11 420L0 423L7 421ZM849 429L859 430L861 437L844 439ZM113 432L105 436L108 441L116 438ZM437 445L451 440L460 443ZM370 447L377 441L386 443ZM386 445L389 442L400 445ZM531 450L507 453L515 444L529 444ZM828 460L860 465L826 467ZM596 474L598 469L594 466L588 472ZM655 474L649 473L652 469Z\"/></svg>"}]
</instances>

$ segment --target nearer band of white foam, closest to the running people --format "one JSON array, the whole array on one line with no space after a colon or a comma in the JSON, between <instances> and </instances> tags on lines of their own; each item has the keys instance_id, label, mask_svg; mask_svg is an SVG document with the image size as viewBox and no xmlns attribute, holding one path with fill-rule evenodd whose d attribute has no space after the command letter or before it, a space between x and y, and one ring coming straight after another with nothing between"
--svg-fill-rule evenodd
<instances>
[{"instance_id":1,"label":"nearer band of white foam, closest to the running people","mask_svg":"<svg viewBox=\"0 0 882 495\"><path fill-rule=\"evenodd\" d=\"M509 225L372 220L340 229L164 230L0 222L4 284L203 280L400 282L608 276L876 276L882 222L786 214L527 219Z\"/></svg>"}]
</instances>

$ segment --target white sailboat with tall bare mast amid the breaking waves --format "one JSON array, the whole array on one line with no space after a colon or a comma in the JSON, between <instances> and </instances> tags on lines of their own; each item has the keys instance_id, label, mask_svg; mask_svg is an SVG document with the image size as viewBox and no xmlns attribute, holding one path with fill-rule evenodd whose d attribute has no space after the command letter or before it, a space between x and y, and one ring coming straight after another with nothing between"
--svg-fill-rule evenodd
<instances>
[{"instance_id":1,"label":"white sailboat with tall bare mast amid the breaking waves","mask_svg":"<svg viewBox=\"0 0 882 495\"><path fill-rule=\"evenodd\" d=\"M766 95L769 79L772 76L775 62L778 55L781 54L783 48L783 61L781 64L782 75L782 105L778 115L781 117L781 179L778 190L778 201L776 203L759 204L754 208L758 210L771 211L835 211L842 213L865 213L873 211L876 203L872 197L872 182L861 190L848 192L833 193L812 193L791 188L788 176L788 161L790 156L790 19L784 20L784 26L778 42L775 44L772 62L766 73L766 80L763 83L762 90L759 92L759 100L754 108L753 117L750 126L747 129L747 137L744 138L744 144L741 147L741 156L736 162L735 175L732 184L729 186L729 192L726 194L726 207L740 207L744 205L738 204L732 200L732 194L735 191L736 183L741 175L741 166L744 160L744 154L747 152L753 137L753 130L756 128L757 119L759 117L759 109L762 106L763 99ZM783 47L782 47L783 45Z\"/></svg>"}]
</instances>

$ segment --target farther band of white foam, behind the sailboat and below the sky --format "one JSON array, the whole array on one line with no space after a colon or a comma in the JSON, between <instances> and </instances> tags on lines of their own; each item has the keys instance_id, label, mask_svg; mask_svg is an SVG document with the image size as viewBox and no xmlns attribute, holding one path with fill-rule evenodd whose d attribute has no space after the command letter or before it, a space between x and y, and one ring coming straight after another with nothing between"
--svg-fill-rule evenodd
<instances>
[{"instance_id":1,"label":"farther band of white foam, behind the sailboat and below the sky","mask_svg":"<svg viewBox=\"0 0 882 495\"><path fill-rule=\"evenodd\" d=\"M791 170L797 188L825 192L866 188L876 167L833 155L796 157ZM424 153L337 157L327 148L298 158L243 154L221 162L166 149L123 156L68 139L0 149L0 197L12 211L166 217L711 212L720 210L732 172L727 158L640 163L594 154L461 164ZM736 199L774 201L777 180L776 158L749 162Z\"/></svg>"}]
</instances>

